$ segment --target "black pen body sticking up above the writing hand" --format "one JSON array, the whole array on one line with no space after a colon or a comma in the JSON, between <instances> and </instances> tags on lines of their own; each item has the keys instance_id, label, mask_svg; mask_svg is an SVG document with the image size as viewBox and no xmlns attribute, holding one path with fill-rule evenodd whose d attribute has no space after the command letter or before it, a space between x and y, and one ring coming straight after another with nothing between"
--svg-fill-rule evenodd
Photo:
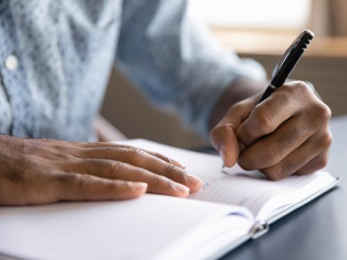
<instances>
[{"instance_id":1,"label":"black pen body sticking up above the writing hand","mask_svg":"<svg viewBox=\"0 0 347 260\"><path fill-rule=\"evenodd\" d=\"M296 37L273 70L271 83L266 87L266 90L264 94L262 94L258 103L264 101L272 92L285 83L285 80L287 80L289 74L294 69L296 63L298 63L298 60L300 60L301 55L303 55L313 37L314 33L306 29Z\"/></svg>"}]
</instances>

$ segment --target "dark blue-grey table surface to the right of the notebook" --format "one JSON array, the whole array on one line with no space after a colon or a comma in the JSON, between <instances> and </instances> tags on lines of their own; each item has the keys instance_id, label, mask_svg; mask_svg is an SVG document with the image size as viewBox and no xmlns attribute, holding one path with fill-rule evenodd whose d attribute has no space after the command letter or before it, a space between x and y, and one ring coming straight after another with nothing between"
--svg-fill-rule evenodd
<instances>
[{"instance_id":1,"label":"dark blue-grey table surface to the right of the notebook","mask_svg":"<svg viewBox=\"0 0 347 260\"><path fill-rule=\"evenodd\" d=\"M270 226L268 233L222 257L248 259L347 259L347 116L330 123L333 143L326 171L339 186Z\"/></svg>"}]
</instances>

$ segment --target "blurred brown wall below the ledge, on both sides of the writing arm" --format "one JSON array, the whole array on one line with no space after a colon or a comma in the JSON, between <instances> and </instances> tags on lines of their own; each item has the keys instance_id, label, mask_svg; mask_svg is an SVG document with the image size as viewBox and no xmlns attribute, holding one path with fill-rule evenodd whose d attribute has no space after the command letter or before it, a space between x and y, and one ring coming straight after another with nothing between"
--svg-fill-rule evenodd
<instances>
[{"instance_id":1,"label":"blurred brown wall below the ledge, on both sides of the writing arm","mask_svg":"<svg viewBox=\"0 0 347 260\"><path fill-rule=\"evenodd\" d=\"M253 55L269 75L278 61L276 55ZM332 114L347 114L347 59L303 57L291 78L310 80ZM177 116L165 114L149 105L141 94L117 71L112 73L101 114L128 138L146 138L183 148L206 143L181 125Z\"/></svg>"}]
</instances>

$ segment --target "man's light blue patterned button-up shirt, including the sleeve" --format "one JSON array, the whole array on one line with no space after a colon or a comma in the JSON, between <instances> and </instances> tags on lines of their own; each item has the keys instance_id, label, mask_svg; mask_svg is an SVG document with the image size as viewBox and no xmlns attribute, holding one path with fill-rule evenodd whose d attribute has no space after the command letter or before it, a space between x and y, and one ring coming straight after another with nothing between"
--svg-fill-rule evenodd
<instances>
[{"instance_id":1,"label":"man's light blue patterned button-up shirt, including the sleeve","mask_svg":"<svg viewBox=\"0 0 347 260\"><path fill-rule=\"evenodd\" d=\"M0 132L92 140L112 66L206 134L237 77L263 78L187 14L183 0L0 1Z\"/></svg>"}]
</instances>

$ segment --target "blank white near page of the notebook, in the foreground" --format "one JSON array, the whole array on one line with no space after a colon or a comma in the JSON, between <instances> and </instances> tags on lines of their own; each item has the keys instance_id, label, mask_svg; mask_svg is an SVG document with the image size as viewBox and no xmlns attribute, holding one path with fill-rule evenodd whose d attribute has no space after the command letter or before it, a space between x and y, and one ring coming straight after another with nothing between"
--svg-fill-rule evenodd
<instances>
[{"instance_id":1,"label":"blank white near page of the notebook, in the foreground","mask_svg":"<svg viewBox=\"0 0 347 260\"><path fill-rule=\"evenodd\" d=\"M237 239L252 223L244 209L152 194L119 202L0 207L0 258L154 259L173 244L185 255L209 236L229 232L229 242Z\"/></svg>"}]
</instances>

